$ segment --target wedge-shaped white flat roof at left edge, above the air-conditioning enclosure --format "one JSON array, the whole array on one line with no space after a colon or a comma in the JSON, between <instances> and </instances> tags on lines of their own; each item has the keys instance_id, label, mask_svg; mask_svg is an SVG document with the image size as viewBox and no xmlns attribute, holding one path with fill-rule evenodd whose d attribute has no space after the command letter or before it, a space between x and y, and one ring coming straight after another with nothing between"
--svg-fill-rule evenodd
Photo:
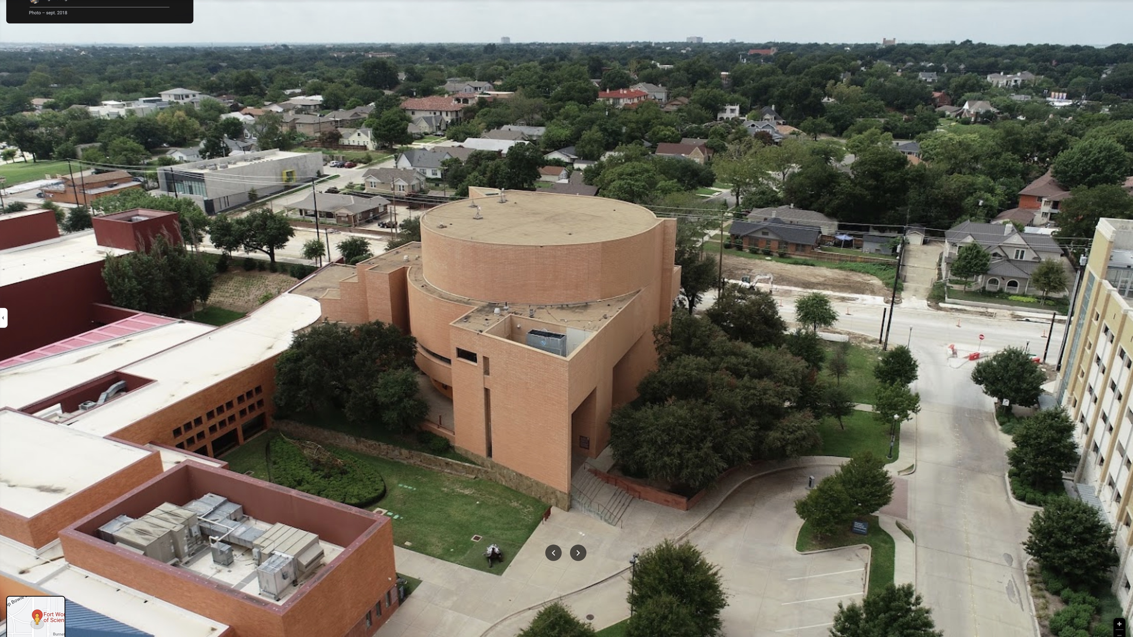
<instances>
[{"instance_id":1,"label":"wedge-shaped white flat roof at left edge, above the air-conditioning enclosure","mask_svg":"<svg viewBox=\"0 0 1133 637\"><path fill-rule=\"evenodd\" d=\"M0 508L27 518L150 455L11 410L0 440Z\"/></svg>"}]
</instances>

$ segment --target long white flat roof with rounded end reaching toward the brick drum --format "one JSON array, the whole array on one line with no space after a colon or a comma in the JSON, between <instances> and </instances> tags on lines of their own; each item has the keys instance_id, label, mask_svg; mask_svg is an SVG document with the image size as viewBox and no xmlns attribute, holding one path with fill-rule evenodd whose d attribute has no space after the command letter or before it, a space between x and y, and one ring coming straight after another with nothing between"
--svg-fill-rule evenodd
<instances>
[{"instance_id":1,"label":"long white flat roof with rounded end reaching toward the brick drum","mask_svg":"<svg viewBox=\"0 0 1133 637\"><path fill-rule=\"evenodd\" d=\"M291 346L295 331L322 315L318 301L283 294L248 316L122 368L154 382L68 421L110 435L160 409L266 360ZM174 423L180 424L180 423Z\"/></svg>"}]
</instances>

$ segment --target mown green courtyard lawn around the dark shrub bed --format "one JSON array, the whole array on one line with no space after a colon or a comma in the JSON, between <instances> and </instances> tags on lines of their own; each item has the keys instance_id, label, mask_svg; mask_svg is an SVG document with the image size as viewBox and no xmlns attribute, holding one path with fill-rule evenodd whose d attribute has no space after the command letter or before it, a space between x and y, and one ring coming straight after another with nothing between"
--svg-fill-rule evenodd
<instances>
[{"instance_id":1,"label":"mown green courtyard lawn around the dark shrub bed","mask_svg":"<svg viewBox=\"0 0 1133 637\"><path fill-rule=\"evenodd\" d=\"M264 445L275 432L266 432L222 459L229 468L266 479ZM374 466L385 481L385 498L378 507L393 518L393 542L426 555L502 575L542 520L546 504L486 479L469 479L385 458L343 451L359 462ZM479 542L472 542L480 535ZM499 544L504 562L488 569L484 550Z\"/></svg>"}]
</instances>

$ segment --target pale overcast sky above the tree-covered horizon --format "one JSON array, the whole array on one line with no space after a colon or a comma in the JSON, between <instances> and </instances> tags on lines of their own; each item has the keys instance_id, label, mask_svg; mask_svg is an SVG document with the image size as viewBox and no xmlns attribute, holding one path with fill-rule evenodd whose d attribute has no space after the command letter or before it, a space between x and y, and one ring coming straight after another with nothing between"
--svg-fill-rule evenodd
<instances>
[{"instance_id":1,"label":"pale overcast sky above the tree-covered horizon","mask_svg":"<svg viewBox=\"0 0 1133 637\"><path fill-rule=\"evenodd\" d=\"M194 24L152 27L0 24L0 43L1133 41L1127 0L195 0L194 11Z\"/></svg>"}]
</instances>

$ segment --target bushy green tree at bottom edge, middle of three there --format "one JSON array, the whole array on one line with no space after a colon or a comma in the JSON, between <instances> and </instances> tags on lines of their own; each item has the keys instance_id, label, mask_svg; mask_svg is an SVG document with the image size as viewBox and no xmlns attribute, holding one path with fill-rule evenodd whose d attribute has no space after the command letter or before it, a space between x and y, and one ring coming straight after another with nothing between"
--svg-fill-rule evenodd
<instances>
[{"instance_id":1,"label":"bushy green tree at bottom edge, middle of three there","mask_svg":"<svg viewBox=\"0 0 1133 637\"><path fill-rule=\"evenodd\" d=\"M665 612L662 606L673 605L687 609L696 626L696 632L689 634L682 630L675 632L676 636L716 637L722 634L719 613L727 605L727 597L719 567L705 560L700 550L691 543L674 544L665 540L637 558L630 577L630 594L627 601L631 608L646 613L642 623L650 620L650 615L662 615ZM655 601L664 603L650 604ZM633 617L637 614L634 612ZM629 634L642 637L647 635L642 630L644 627L632 627L633 621L631 618L632 632ZM678 625L687 623L680 619L670 621ZM653 635L659 637L664 634Z\"/></svg>"}]
</instances>

